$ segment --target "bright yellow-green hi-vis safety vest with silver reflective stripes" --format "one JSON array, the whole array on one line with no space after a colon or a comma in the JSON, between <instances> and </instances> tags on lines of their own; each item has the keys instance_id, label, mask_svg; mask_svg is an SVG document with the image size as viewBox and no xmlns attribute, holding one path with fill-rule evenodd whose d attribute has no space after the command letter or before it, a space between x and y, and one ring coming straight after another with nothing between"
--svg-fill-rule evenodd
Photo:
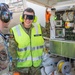
<instances>
[{"instance_id":1,"label":"bright yellow-green hi-vis safety vest with silver reflective stripes","mask_svg":"<svg viewBox=\"0 0 75 75\"><path fill-rule=\"evenodd\" d=\"M21 25L13 27L12 31L18 44L17 67L40 66L44 48L40 25L34 24L31 36L23 30Z\"/></svg>"}]
</instances>

